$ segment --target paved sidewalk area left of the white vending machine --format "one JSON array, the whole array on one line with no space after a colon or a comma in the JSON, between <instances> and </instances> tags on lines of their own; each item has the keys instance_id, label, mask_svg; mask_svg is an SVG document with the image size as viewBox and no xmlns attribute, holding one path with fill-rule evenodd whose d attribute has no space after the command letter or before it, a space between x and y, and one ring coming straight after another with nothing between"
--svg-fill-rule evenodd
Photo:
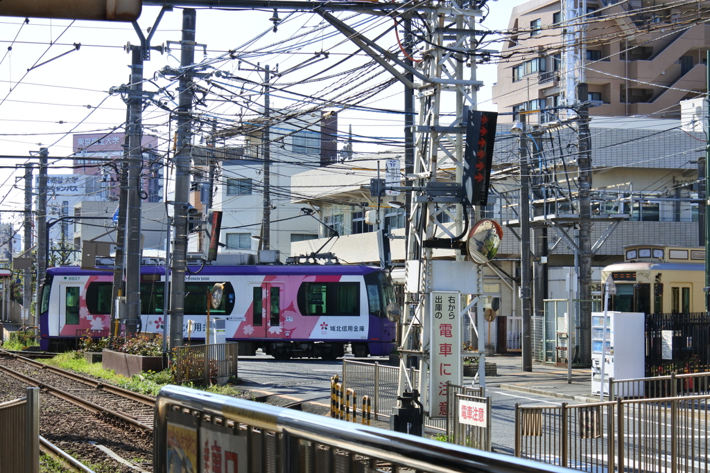
<instances>
[{"instance_id":1,"label":"paved sidewalk area left of the white vending machine","mask_svg":"<svg viewBox=\"0 0 710 473\"><path fill-rule=\"evenodd\" d=\"M573 368L572 383L568 383L566 366L533 362L532 372L522 372L520 356L507 355L486 357L486 363L496 363L498 370L498 376L486 377L487 387L554 396L577 403L599 402L599 394L591 394L591 368Z\"/></svg>"}]
</instances>

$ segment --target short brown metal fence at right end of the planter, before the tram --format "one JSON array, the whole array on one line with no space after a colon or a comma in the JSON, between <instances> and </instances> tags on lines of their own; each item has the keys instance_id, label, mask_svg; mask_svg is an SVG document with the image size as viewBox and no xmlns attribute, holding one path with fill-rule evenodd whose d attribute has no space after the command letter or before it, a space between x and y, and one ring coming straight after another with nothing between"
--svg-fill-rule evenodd
<instances>
[{"instance_id":1,"label":"short brown metal fence at right end of the planter, before the tram","mask_svg":"<svg viewBox=\"0 0 710 473\"><path fill-rule=\"evenodd\" d=\"M173 379L185 382L215 383L219 378L236 376L237 343L211 343L176 347Z\"/></svg>"}]
</instances>

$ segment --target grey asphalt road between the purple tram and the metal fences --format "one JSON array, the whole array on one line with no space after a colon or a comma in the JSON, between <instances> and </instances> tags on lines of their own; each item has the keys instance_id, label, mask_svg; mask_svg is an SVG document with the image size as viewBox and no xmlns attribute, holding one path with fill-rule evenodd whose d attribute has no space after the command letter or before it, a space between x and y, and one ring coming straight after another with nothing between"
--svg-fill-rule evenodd
<instances>
[{"instance_id":1,"label":"grey asphalt road between the purple tram and the metal fences","mask_svg":"<svg viewBox=\"0 0 710 473\"><path fill-rule=\"evenodd\" d=\"M346 355L348 359L354 359ZM365 361L365 360L364 360ZM385 362L385 358L368 357L367 362ZM257 353L255 357L239 357L241 388L254 395L280 394L284 399L317 400L327 404L330 378L342 374L342 360L274 360ZM488 387L492 408L493 450L513 455L515 403L523 406L558 406L562 401L552 396L525 394L518 391Z\"/></svg>"}]
</instances>

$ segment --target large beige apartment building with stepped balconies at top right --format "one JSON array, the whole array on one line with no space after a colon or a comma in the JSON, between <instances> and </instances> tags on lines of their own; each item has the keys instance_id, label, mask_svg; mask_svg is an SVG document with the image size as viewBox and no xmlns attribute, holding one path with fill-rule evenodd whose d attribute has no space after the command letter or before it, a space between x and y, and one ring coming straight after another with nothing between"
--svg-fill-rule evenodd
<instances>
[{"instance_id":1,"label":"large beige apartment building with stepped balconies at top right","mask_svg":"<svg viewBox=\"0 0 710 473\"><path fill-rule=\"evenodd\" d=\"M710 26L708 2L588 1L582 82L589 84L592 116L679 118L679 101L706 89ZM608 4L608 5L605 5ZM564 94L564 12L559 0L531 0L513 9L503 43L493 101L499 123L532 111L528 123L555 119L535 112L559 105Z\"/></svg>"}]
</instances>

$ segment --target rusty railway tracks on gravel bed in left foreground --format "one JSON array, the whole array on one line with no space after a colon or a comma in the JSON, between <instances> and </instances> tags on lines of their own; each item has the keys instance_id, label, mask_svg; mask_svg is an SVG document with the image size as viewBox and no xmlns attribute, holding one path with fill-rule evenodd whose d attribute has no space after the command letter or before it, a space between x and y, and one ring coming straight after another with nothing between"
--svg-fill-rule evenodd
<instances>
[{"instance_id":1,"label":"rusty railway tracks on gravel bed in left foreground","mask_svg":"<svg viewBox=\"0 0 710 473\"><path fill-rule=\"evenodd\" d=\"M43 393L43 451L55 457L53 450L65 452L64 461L75 458L72 468L80 472L152 471L155 401L151 396L0 350L0 401L23 396L26 386L37 386Z\"/></svg>"}]
</instances>

